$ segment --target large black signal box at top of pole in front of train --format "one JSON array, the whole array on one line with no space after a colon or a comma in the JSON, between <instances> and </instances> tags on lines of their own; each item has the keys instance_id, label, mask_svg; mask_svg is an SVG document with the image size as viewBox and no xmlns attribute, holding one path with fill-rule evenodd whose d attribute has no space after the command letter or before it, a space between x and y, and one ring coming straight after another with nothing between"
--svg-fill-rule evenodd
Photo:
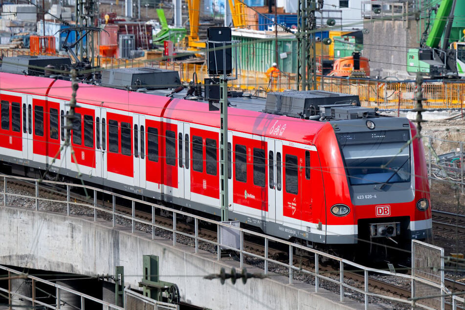
<instances>
[{"instance_id":1,"label":"large black signal box at top of pole in front of train","mask_svg":"<svg viewBox=\"0 0 465 310\"><path fill-rule=\"evenodd\" d=\"M207 29L208 37L208 74L221 75L231 74L232 72L232 54L231 54L231 28L230 27L210 27ZM223 49L222 43L229 46ZM223 58L226 60L224 62Z\"/></svg>"}]
</instances>

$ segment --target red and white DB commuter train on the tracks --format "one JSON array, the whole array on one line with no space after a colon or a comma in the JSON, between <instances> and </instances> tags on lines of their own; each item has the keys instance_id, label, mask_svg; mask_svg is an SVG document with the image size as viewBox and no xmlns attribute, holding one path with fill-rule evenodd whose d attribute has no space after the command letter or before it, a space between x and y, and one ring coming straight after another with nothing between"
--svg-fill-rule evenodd
<instances>
[{"instance_id":1,"label":"red and white DB commuter train on the tracks","mask_svg":"<svg viewBox=\"0 0 465 310\"><path fill-rule=\"evenodd\" d=\"M12 171L75 177L79 169L92 183L220 214L220 112L210 111L201 88L176 92L178 73L153 68L83 80L72 156L60 149L69 76L35 61L67 66L63 58L3 58L0 160ZM228 102L231 220L314 246L396 247L431 235L425 156L408 119L380 117L357 96L324 91L266 100L231 92Z\"/></svg>"}]
</instances>

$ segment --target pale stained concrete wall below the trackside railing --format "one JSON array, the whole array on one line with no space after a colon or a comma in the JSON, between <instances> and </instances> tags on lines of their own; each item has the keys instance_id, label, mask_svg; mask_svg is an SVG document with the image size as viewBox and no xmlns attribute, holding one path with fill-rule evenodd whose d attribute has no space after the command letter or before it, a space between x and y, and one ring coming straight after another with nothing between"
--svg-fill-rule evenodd
<instances>
[{"instance_id":1,"label":"pale stained concrete wall below the trackside railing","mask_svg":"<svg viewBox=\"0 0 465 310\"><path fill-rule=\"evenodd\" d=\"M249 279L232 285L203 276L219 273L236 261L216 261L216 254L194 253L189 246L151 240L130 228L111 228L106 221L0 207L0 264L85 275L114 274L124 266L126 285L137 288L142 255L160 258L160 279L178 285L181 300L211 309L363 309L363 304L340 303L339 295L314 293L311 285L288 285L288 278ZM248 269L263 272L261 269Z\"/></svg>"}]
</instances>

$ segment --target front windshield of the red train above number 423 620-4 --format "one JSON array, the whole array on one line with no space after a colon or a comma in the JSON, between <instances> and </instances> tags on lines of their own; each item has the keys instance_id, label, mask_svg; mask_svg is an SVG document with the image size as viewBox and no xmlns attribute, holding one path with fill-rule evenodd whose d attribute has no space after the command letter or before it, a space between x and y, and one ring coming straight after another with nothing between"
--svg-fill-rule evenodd
<instances>
[{"instance_id":1,"label":"front windshield of the red train above number 423 620-4","mask_svg":"<svg viewBox=\"0 0 465 310\"><path fill-rule=\"evenodd\" d=\"M352 185L410 182L408 130L336 133Z\"/></svg>"}]
</instances>

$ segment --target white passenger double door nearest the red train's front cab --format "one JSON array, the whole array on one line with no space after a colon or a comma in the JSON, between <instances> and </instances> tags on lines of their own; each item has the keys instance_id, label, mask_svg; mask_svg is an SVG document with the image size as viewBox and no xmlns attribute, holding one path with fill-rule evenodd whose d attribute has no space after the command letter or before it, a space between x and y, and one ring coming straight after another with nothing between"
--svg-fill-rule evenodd
<instances>
[{"instance_id":1,"label":"white passenger double door nearest the red train's front cab","mask_svg":"<svg viewBox=\"0 0 465 310\"><path fill-rule=\"evenodd\" d=\"M283 142L266 138L268 144L268 221L283 223Z\"/></svg>"}]
</instances>

